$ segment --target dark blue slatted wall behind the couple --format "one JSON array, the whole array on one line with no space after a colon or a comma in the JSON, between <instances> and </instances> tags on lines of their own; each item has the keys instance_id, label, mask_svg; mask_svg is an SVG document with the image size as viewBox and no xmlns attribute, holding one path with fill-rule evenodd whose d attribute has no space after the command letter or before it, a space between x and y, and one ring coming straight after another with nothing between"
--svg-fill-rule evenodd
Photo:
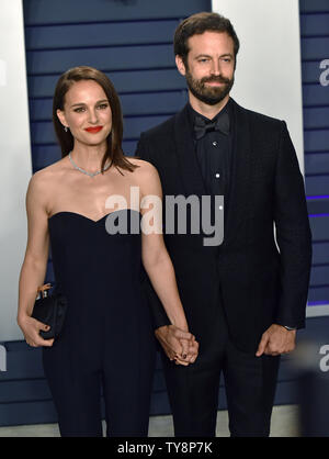
<instances>
[{"instance_id":1,"label":"dark blue slatted wall behind the couple","mask_svg":"<svg viewBox=\"0 0 329 459\"><path fill-rule=\"evenodd\" d=\"M124 112L124 150L133 155L140 132L175 113L186 101L174 66L172 35L181 19L211 11L211 0L24 0L33 170L60 158L52 127L52 98L59 75L76 65L107 74ZM319 64L329 58L329 3L300 0L305 171L314 237L309 304L329 303L329 87ZM327 53L327 55L326 55ZM329 79L329 77L328 77ZM49 259L47 280L53 280ZM328 320L308 318L300 336L328 340ZM55 422L41 350L5 343L7 372L0 372L0 425ZM275 403L296 401L295 376L284 357ZM219 408L225 408L223 385ZM160 361L151 414L169 413Z\"/></svg>"}]
</instances>

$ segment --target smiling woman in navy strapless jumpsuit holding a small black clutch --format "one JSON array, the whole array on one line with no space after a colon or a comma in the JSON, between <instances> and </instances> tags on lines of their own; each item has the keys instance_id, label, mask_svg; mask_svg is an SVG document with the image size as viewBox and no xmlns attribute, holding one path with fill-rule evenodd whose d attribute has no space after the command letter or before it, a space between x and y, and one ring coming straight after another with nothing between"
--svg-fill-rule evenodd
<instances>
[{"instance_id":1,"label":"smiling woman in navy strapless jumpsuit holding a small black clutch","mask_svg":"<svg viewBox=\"0 0 329 459\"><path fill-rule=\"evenodd\" d=\"M29 186L18 322L27 344L43 346L63 436L102 435L101 385L107 435L147 436L155 343L140 260L171 323L185 332L188 324L161 234L110 234L105 223L110 215L140 219L147 212L140 200L161 197L159 177L149 163L124 156L120 101L101 71L77 67L60 77L53 121L63 159L36 172ZM126 205L109 208L113 195ZM39 331L47 326L31 317L49 243L56 282L69 304L55 342L43 339ZM184 342L177 362L193 362L192 348Z\"/></svg>"}]
</instances>

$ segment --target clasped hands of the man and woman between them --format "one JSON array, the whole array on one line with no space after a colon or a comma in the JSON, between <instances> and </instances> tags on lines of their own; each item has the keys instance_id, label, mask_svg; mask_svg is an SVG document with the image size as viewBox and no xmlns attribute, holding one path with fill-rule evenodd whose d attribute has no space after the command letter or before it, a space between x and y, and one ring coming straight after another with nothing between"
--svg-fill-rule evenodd
<instances>
[{"instance_id":1,"label":"clasped hands of the man and woman between them","mask_svg":"<svg viewBox=\"0 0 329 459\"><path fill-rule=\"evenodd\" d=\"M177 363L188 366L197 357L198 343L195 337L174 325L164 325L156 329L156 337L161 344L167 357Z\"/></svg>"}]
</instances>

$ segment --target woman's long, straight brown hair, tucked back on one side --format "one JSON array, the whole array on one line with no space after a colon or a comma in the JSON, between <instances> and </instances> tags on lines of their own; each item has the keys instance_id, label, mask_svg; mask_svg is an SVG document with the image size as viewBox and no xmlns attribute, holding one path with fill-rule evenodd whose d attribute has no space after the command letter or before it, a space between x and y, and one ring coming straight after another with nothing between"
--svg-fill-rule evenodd
<instances>
[{"instance_id":1,"label":"woman's long, straight brown hair, tucked back on one side","mask_svg":"<svg viewBox=\"0 0 329 459\"><path fill-rule=\"evenodd\" d=\"M107 136L107 149L102 159L101 170L104 170L104 166L110 159L111 166L133 172L138 166L128 161L122 149L123 117L118 96L106 75L92 67L73 67L63 74L57 81L53 100L53 122L61 148L61 156L65 157L72 150L75 139L69 130L67 132L64 130L57 116L57 110L64 110L65 94L72 85L81 80L93 80L99 83L106 94L112 111L112 131Z\"/></svg>"}]
</instances>

